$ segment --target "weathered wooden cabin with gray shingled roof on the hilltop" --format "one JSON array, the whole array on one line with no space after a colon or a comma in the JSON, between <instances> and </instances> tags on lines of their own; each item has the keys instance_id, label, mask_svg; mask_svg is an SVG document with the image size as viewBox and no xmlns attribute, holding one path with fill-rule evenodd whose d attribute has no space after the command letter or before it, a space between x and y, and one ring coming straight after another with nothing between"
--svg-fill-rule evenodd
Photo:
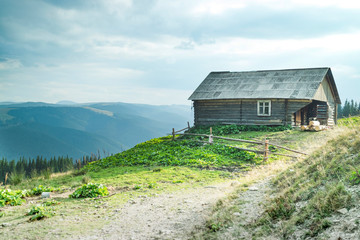
<instances>
[{"instance_id":1,"label":"weathered wooden cabin with gray shingled roof on the hilltop","mask_svg":"<svg viewBox=\"0 0 360 240\"><path fill-rule=\"evenodd\" d=\"M189 100L195 125L332 126L341 104L330 68L211 72Z\"/></svg>"}]
</instances>

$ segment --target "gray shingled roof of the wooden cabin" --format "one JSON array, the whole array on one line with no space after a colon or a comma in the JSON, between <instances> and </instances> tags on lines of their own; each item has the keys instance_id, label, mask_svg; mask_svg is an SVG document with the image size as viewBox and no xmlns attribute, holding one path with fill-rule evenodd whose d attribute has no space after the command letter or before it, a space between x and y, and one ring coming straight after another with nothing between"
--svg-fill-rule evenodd
<instances>
[{"instance_id":1,"label":"gray shingled roof of the wooden cabin","mask_svg":"<svg viewBox=\"0 0 360 240\"><path fill-rule=\"evenodd\" d=\"M211 72L189 100L210 99L313 99L328 75L340 103L330 68L306 68L251 72Z\"/></svg>"}]
</instances>

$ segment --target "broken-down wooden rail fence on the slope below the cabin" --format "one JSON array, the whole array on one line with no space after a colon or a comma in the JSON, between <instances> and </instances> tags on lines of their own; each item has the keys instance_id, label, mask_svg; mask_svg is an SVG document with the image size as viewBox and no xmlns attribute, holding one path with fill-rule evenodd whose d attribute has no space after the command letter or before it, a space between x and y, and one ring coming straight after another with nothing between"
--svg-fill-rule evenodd
<instances>
[{"instance_id":1,"label":"broken-down wooden rail fence on the slope below the cabin","mask_svg":"<svg viewBox=\"0 0 360 240\"><path fill-rule=\"evenodd\" d=\"M270 144L269 140L264 140L263 142L260 141L251 141L251 140L243 140L243 139L236 139L236 138L227 138L227 137L220 137L220 136L214 136L212 134L212 128L210 127L210 134L197 134L197 133L181 133L185 130L190 130L190 124L188 122L188 126L186 128L183 128L181 130L175 131L175 129L172 129L172 140L174 141L176 138L176 135L186 135L186 136L199 136L199 137L207 137L209 140L208 141L201 141L204 143L208 143L208 144L213 144L214 143L214 138L216 139L222 139L222 140L226 140L226 141L233 141L233 142L243 142L243 143L250 143L250 144L255 144L255 145L264 145L264 150L255 150L255 149L248 149L248 148L240 148L240 147L235 147L235 146L231 146L231 145L225 145L227 147L231 147L231 148L236 148L239 150L243 150L243 151L248 151L248 152L254 152L257 154L263 154L264 155L264 162L267 161L269 159L269 155L279 155L279 156L285 156L285 157L292 157L292 158L297 158L298 156L294 156L294 155L288 155L288 154L282 154L282 153L274 153L274 152L270 152L269 150L269 146L274 146L277 148L281 148L284 149L286 151L290 151L290 152L294 152L294 153L298 153L298 154L302 154L302 155L308 155L304 152L300 152L297 150L293 150L284 146L280 146L277 144Z\"/></svg>"}]
</instances>

